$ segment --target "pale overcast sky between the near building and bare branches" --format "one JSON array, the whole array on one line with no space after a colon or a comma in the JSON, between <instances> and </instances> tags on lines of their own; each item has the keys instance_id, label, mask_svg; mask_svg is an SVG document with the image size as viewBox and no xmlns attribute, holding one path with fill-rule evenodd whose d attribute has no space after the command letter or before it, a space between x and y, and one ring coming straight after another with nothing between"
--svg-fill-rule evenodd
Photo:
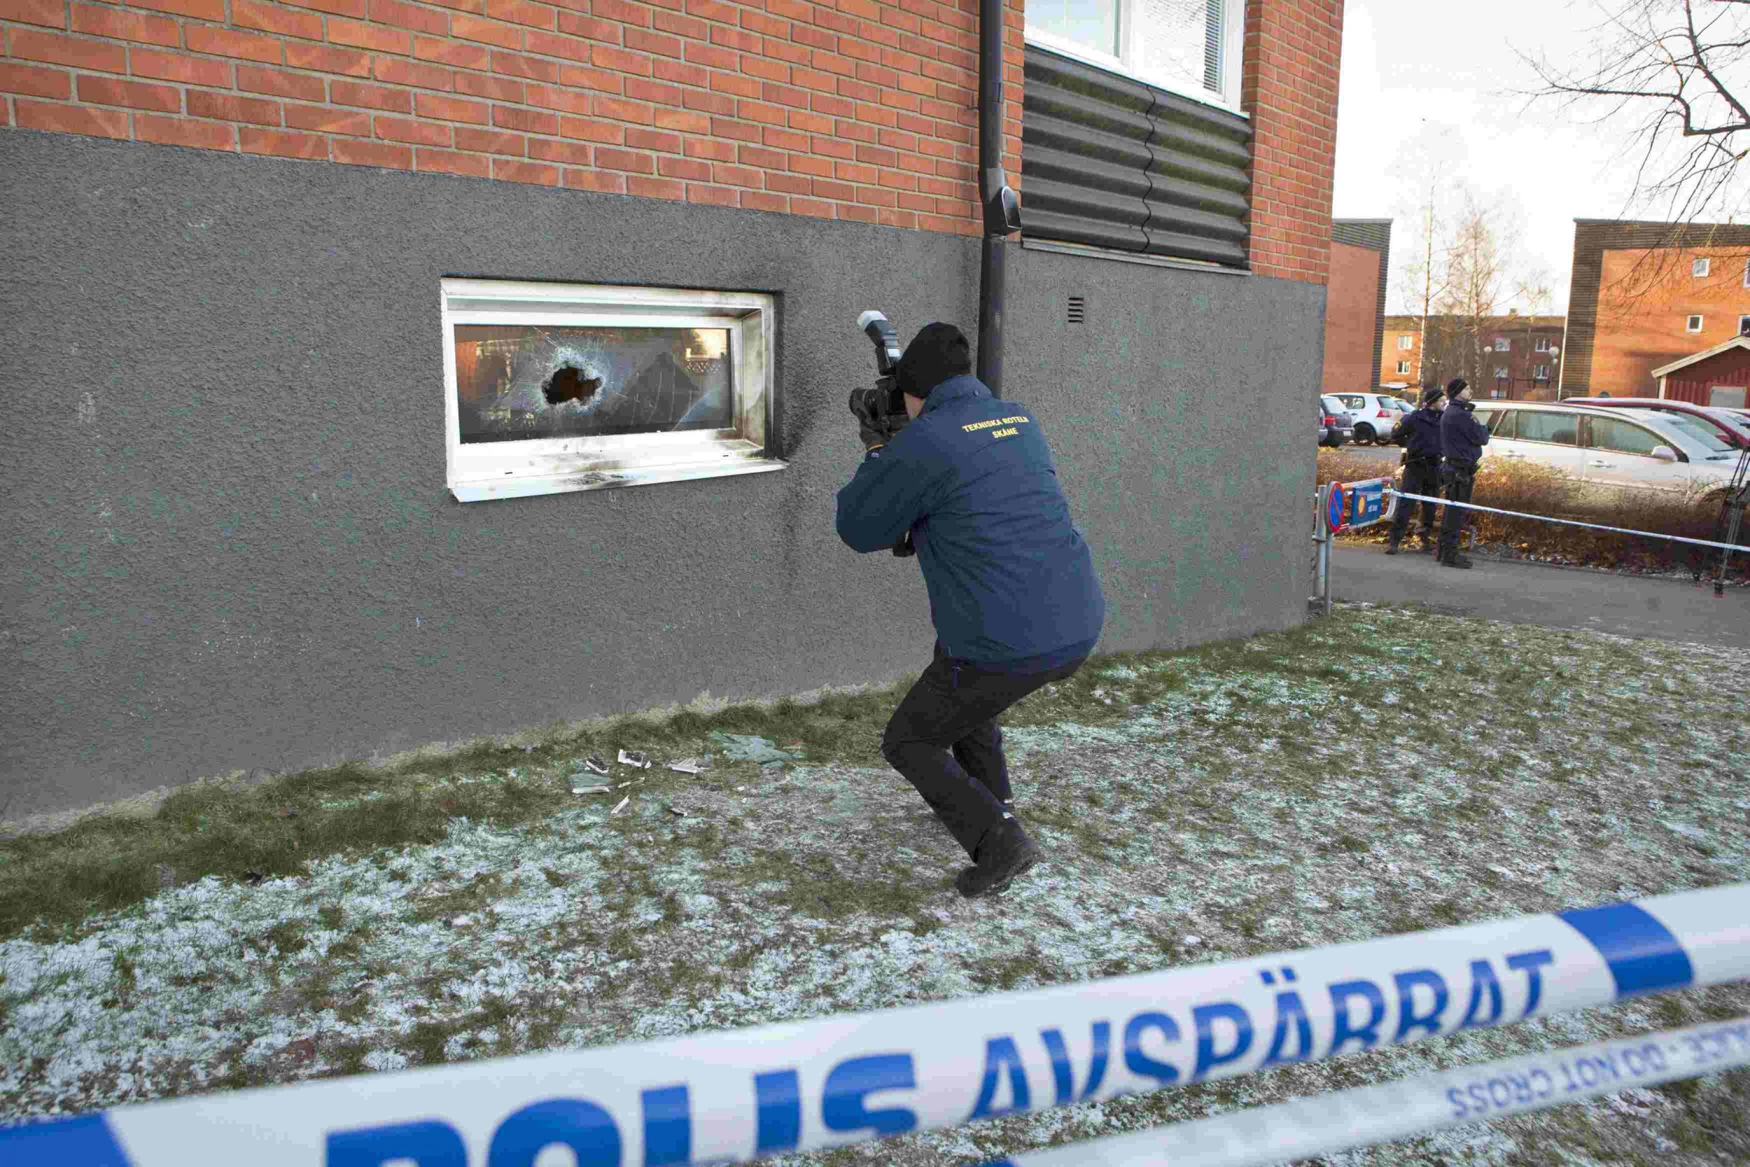
<instances>
[{"instance_id":1,"label":"pale overcast sky between the near building and bare branches","mask_svg":"<svg viewBox=\"0 0 1750 1167\"><path fill-rule=\"evenodd\" d=\"M1507 205L1526 264L1549 276L1550 310L1566 311L1573 220L1624 213L1629 156L1620 126L1528 108L1536 77L1514 49L1577 59L1596 21L1587 0L1348 0L1335 213L1396 220L1390 311L1405 310L1398 259L1416 220L1405 166L1416 154Z\"/></svg>"}]
</instances>

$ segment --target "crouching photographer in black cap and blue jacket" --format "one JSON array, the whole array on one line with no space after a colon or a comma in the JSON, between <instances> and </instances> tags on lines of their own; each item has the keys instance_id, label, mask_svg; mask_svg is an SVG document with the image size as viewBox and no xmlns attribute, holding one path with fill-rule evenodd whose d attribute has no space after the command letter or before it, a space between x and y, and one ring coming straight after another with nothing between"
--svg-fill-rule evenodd
<instances>
[{"instance_id":1,"label":"crouching photographer in black cap and blue jacket","mask_svg":"<svg viewBox=\"0 0 1750 1167\"><path fill-rule=\"evenodd\" d=\"M956 889L989 896L1040 861L1015 817L998 717L1082 667L1106 600L1040 418L971 376L961 331L926 325L896 380L912 420L886 439L877 418L858 418L866 453L838 492L838 537L866 553L910 534L917 549L936 651L882 754L971 857Z\"/></svg>"}]
</instances>

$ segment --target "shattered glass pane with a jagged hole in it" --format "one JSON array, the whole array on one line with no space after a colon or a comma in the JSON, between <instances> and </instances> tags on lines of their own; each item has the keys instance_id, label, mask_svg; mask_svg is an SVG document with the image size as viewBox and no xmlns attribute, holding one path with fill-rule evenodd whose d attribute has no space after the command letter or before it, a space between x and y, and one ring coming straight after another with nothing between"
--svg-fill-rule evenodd
<instances>
[{"instance_id":1,"label":"shattered glass pane with a jagged hole in it","mask_svg":"<svg viewBox=\"0 0 1750 1167\"><path fill-rule=\"evenodd\" d=\"M728 329L457 324L462 443L724 430Z\"/></svg>"}]
</instances>

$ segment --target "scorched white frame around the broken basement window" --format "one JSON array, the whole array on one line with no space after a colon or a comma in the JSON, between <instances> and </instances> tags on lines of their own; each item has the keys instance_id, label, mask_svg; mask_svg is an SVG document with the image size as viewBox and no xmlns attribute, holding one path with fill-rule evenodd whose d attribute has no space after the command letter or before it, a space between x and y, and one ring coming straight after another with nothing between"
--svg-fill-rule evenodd
<instances>
[{"instance_id":1,"label":"scorched white frame around the broken basement window","mask_svg":"<svg viewBox=\"0 0 1750 1167\"><path fill-rule=\"evenodd\" d=\"M642 486L786 469L768 455L777 301L761 292L443 280L444 474L457 502ZM732 429L462 443L457 324L728 329Z\"/></svg>"}]
</instances>

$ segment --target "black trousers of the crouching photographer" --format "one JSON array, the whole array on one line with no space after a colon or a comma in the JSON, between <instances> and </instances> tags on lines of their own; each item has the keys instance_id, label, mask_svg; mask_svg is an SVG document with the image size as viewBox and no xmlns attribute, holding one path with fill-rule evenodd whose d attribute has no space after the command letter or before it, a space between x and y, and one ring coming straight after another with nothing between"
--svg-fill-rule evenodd
<instances>
[{"instance_id":1,"label":"black trousers of the crouching photographer","mask_svg":"<svg viewBox=\"0 0 1750 1167\"><path fill-rule=\"evenodd\" d=\"M880 752L917 787L954 838L976 857L978 840L1003 821L1008 761L1003 758L1003 710L1054 681L1073 675L1087 658L1045 672L1010 674L936 658L892 710Z\"/></svg>"}]
</instances>

